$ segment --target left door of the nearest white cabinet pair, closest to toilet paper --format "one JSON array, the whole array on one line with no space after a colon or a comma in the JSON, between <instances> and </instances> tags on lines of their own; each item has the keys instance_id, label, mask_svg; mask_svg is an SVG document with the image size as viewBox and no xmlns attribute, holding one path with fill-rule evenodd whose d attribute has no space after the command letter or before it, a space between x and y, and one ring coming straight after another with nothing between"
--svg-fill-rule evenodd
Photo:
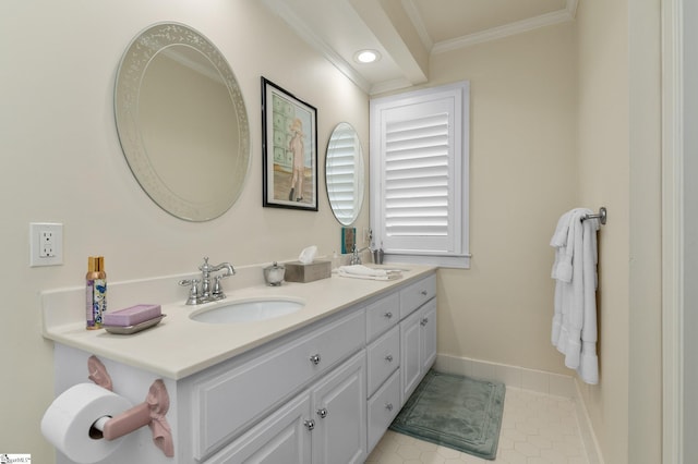
<instances>
[{"instance_id":1,"label":"left door of the nearest white cabinet pair, closest to toilet paper","mask_svg":"<svg viewBox=\"0 0 698 464\"><path fill-rule=\"evenodd\" d=\"M311 438L309 393L291 400L206 464L308 464Z\"/></svg>"}]
</instances>

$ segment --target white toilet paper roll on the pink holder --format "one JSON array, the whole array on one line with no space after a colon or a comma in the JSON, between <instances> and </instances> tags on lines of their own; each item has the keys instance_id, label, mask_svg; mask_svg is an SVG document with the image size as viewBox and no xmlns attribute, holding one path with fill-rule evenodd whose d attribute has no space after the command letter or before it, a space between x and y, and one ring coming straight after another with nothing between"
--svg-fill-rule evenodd
<instances>
[{"instance_id":1,"label":"white toilet paper roll on the pink holder","mask_svg":"<svg viewBox=\"0 0 698 464\"><path fill-rule=\"evenodd\" d=\"M129 400L105 388L79 383L61 393L46 410L41 434L70 460L80 464L95 463L111 454L123 437L111 441L92 438L93 424L100 417L113 417L130 407Z\"/></svg>"}]
</instances>

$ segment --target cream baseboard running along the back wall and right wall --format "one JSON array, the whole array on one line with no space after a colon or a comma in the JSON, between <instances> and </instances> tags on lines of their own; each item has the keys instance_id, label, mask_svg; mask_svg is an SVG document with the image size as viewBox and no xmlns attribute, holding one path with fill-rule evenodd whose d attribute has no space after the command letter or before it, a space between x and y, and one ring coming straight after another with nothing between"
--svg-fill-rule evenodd
<instances>
[{"instance_id":1,"label":"cream baseboard running along the back wall and right wall","mask_svg":"<svg viewBox=\"0 0 698 464\"><path fill-rule=\"evenodd\" d=\"M503 382L507 387L573 400L577 410L577 423L589 464L604 464L599 442L591 427L587 405L575 377L446 354L436 355L434 369L477 379L495 380Z\"/></svg>"}]
</instances>

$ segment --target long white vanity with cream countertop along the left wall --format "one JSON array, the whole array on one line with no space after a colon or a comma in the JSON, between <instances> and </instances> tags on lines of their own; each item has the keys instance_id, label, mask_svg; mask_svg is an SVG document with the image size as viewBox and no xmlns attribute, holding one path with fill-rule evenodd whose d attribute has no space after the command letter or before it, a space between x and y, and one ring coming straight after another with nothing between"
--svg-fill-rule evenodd
<instances>
[{"instance_id":1,"label":"long white vanity with cream countertop along the left wall","mask_svg":"<svg viewBox=\"0 0 698 464\"><path fill-rule=\"evenodd\" d=\"M132 404L165 381L174 456L144 427L104 464L363 463L435 359L436 274L412 272L289 285L282 290L303 298L310 316L268 333L274 322L209 326L173 306L160 327L122 337L60 325L47 309L45 319L57 321L45 331L56 341L56 393L86 381L93 354ZM65 297L55 295L59 307ZM71 291L71 307L83 297ZM72 462L58 453L57 464Z\"/></svg>"}]
</instances>

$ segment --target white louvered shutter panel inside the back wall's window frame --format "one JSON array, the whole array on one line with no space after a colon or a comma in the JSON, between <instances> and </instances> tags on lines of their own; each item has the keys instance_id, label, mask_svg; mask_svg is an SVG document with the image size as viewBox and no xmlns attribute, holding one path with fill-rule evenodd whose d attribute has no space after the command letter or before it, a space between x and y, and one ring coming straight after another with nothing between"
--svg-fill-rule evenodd
<instances>
[{"instance_id":1,"label":"white louvered shutter panel inside the back wall's window frame","mask_svg":"<svg viewBox=\"0 0 698 464\"><path fill-rule=\"evenodd\" d=\"M453 98L401 106L383 115L384 248L459 253Z\"/></svg>"}]
</instances>

